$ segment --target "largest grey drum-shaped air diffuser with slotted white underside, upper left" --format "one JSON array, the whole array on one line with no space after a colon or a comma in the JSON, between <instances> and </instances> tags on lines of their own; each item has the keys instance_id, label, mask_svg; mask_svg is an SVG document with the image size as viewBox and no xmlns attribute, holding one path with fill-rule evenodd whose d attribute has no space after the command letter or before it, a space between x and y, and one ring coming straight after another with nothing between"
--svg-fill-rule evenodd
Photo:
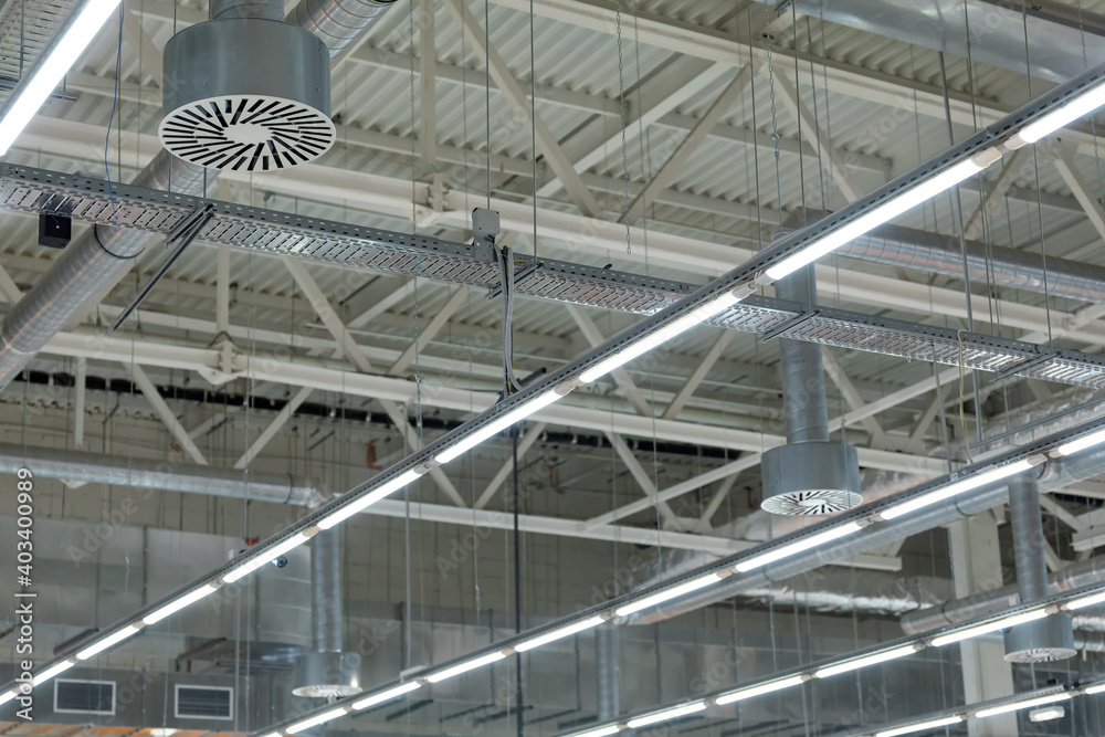
<instances>
[{"instance_id":1,"label":"largest grey drum-shaped air diffuser with slotted white underside, upper left","mask_svg":"<svg viewBox=\"0 0 1105 737\"><path fill-rule=\"evenodd\" d=\"M212 169L276 171L334 145L329 52L281 21L225 18L165 46L166 110L158 136L173 155Z\"/></svg>"}]
</instances>

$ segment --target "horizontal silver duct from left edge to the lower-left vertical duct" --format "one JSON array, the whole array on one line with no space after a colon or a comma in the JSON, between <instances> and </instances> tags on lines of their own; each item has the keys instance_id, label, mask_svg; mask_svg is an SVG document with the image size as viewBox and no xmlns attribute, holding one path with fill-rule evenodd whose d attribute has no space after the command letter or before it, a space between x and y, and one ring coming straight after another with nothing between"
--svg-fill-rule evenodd
<instances>
[{"instance_id":1,"label":"horizontal silver duct from left edge to the lower-left vertical duct","mask_svg":"<svg viewBox=\"0 0 1105 737\"><path fill-rule=\"evenodd\" d=\"M31 468L40 478L112 484L165 492L312 506L322 494L302 478L285 474L228 472L208 466L101 455L87 451L23 448L0 443L0 473Z\"/></svg>"}]
</instances>

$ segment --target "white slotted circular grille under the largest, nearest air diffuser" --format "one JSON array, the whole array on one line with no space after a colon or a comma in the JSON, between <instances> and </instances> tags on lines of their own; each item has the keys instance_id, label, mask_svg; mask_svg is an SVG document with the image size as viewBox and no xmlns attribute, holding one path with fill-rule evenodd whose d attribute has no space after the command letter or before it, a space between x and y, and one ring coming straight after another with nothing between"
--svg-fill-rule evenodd
<instances>
[{"instance_id":1,"label":"white slotted circular grille under the largest, nearest air diffuser","mask_svg":"<svg viewBox=\"0 0 1105 737\"><path fill-rule=\"evenodd\" d=\"M186 161L211 169L275 171L306 164L334 145L330 119L291 99L227 95L172 110L161 143Z\"/></svg>"}]
</instances>

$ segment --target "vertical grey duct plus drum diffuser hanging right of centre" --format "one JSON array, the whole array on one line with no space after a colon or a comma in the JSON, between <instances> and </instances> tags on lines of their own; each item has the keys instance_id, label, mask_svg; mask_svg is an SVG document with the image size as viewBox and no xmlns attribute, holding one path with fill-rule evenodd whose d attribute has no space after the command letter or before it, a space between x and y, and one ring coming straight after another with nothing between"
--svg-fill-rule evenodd
<instances>
[{"instance_id":1,"label":"vertical grey duct plus drum diffuser hanging right of centre","mask_svg":"<svg viewBox=\"0 0 1105 737\"><path fill-rule=\"evenodd\" d=\"M814 302L814 272L801 269L776 284L781 299ZM855 448L829 440L821 346L779 338L787 444L764 453L764 503L778 515L827 515L863 503Z\"/></svg>"}]
</instances>

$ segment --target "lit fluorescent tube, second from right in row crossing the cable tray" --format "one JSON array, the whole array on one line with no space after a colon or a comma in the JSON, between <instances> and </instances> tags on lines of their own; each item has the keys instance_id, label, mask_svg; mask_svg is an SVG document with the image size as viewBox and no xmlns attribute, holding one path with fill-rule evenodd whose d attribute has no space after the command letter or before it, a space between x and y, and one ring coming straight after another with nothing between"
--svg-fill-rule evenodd
<instances>
[{"instance_id":1,"label":"lit fluorescent tube, second from right in row crossing the cable tray","mask_svg":"<svg viewBox=\"0 0 1105 737\"><path fill-rule=\"evenodd\" d=\"M951 189L964 179L982 171L1000 158L1001 151L996 148L988 148L980 151L971 158L960 161L940 173L903 190L886 202L873 208L866 214L860 215L832 232L811 241L801 251L769 267L766 273L772 280L780 280L788 274L792 274L821 256L832 253L845 243L890 222L904 212L908 212L922 202L927 202L940 192Z\"/></svg>"}]
</instances>

